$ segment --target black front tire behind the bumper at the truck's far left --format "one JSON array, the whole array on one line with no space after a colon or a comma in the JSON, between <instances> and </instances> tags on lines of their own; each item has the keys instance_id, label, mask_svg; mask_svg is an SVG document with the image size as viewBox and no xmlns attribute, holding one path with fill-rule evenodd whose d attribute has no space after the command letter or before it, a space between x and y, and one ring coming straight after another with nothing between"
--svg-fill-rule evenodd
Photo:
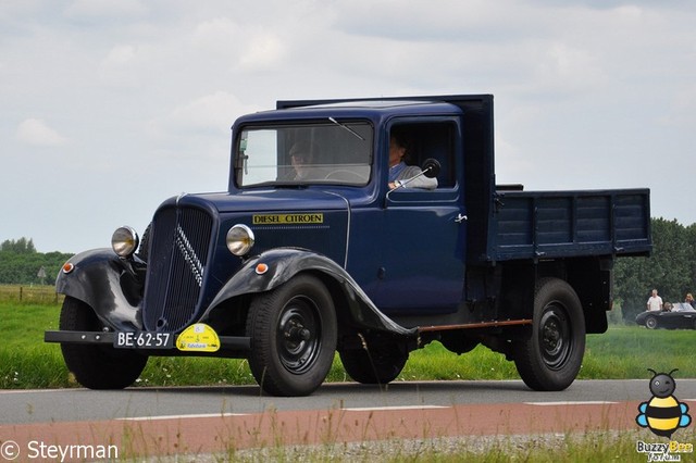
<instances>
[{"instance_id":1,"label":"black front tire behind the bumper at the truck's far left","mask_svg":"<svg viewBox=\"0 0 696 463\"><path fill-rule=\"evenodd\" d=\"M85 302L65 297L61 330L100 331L95 311ZM75 379L89 389L123 389L142 373L147 355L111 346L61 343L63 359Z\"/></svg>"}]
</instances>

